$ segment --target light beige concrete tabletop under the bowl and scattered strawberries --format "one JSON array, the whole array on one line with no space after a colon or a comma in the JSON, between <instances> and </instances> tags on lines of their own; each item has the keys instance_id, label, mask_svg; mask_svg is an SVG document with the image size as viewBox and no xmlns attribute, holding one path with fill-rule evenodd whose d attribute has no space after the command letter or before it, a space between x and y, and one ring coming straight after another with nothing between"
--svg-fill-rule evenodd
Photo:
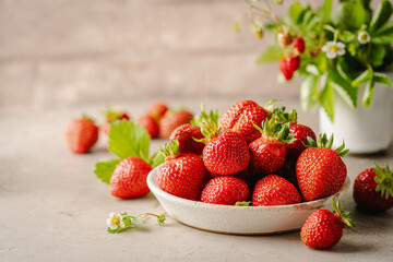
<instances>
[{"instance_id":1,"label":"light beige concrete tabletop under the bowl and scattered strawberries","mask_svg":"<svg viewBox=\"0 0 393 262\"><path fill-rule=\"evenodd\" d=\"M199 111L223 112L237 99L167 99ZM262 105L266 100L258 100ZM151 100L118 103L133 117ZM296 100L282 104L299 109ZM343 207L357 222L331 250L312 250L299 233L275 236L231 236L184 226L168 217L165 226L150 218L145 225L118 235L106 231L111 212L163 212L151 193L118 200L93 174L94 163L111 157L103 140L90 154L71 154L63 141L67 122L82 111L99 117L105 105L75 106L49 112L0 118L0 261L392 261L393 210L366 215L355 209L352 189ZM97 117L96 117L97 118ZM301 122L318 128L315 114L299 112ZM157 150L165 141L151 145ZM393 150L373 156L344 158L352 181L373 162L393 165Z\"/></svg>"}]
</instances>

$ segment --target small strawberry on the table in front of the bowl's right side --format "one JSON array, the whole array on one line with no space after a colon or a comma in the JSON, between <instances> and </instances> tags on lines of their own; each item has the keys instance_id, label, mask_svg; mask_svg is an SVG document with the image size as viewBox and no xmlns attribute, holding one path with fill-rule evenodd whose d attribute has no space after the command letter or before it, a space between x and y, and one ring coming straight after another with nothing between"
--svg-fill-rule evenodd
<instances>
[{"instance_id":1,"label":"small strawberry on the table in front of the bowl's right side","mask_svg":"<svg viewBox=\"0 0 393 262\"><path fill-rule=\"evenodd\" d=\"M340 201L333 202L335 214L327 210L313 212L306 221L300 230L301 241L314 249L333 248L343 236L343 228L355 227L349 218L349 212L341 212ZM353 230L353 229L352 229Z\"/></svg>"}]
</instances>

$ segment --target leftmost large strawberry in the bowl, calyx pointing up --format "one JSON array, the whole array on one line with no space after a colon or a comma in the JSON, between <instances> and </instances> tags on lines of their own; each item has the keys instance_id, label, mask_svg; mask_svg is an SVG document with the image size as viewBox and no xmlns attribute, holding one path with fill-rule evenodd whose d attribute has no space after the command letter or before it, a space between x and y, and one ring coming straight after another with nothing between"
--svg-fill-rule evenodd
<instances>
[{"instance_id":1,"label":"leftmost large strawberry in the bowl, calyx pointing up","mask_svg":"<svg viewBox=\"0 0 393 262\"><path fill-rule=\"evenodd\" d=\"M203 160L195 154L179 153L178 141L160 148L165 163L158 168L158 187L179 198L199 201L206 169Z\"/></svg>"}]
</instances>

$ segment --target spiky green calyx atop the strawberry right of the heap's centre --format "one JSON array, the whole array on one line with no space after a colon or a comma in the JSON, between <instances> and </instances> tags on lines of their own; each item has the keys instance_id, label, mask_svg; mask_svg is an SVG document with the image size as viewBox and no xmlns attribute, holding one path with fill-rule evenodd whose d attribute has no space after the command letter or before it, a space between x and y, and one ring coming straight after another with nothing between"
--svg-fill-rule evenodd
<instances>
[{"instance_id":1,"label":"spiky green calyx atop the strawberry right of the heap's centre","mask_svg":"<svg viewBox=\"0 0 393 262\"><path fill-rule=\"evenodd\" d=\"M289 133L289 123L282 123L276 121L276 119L271 118L262 122L262 129L255 123L252 123L255 129L258 129L262 138L267 140L275 140L281 143L293 143L296 139L293 134Z\"/></svg>"}]
</instances>

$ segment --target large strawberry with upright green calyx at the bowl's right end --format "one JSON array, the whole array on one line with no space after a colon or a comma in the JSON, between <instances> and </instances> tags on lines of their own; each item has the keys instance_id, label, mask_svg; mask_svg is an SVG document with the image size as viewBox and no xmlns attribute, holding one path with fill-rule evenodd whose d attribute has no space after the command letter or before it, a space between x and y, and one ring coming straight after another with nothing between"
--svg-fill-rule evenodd
<instances>
[{"instance_id":1,"label":"large strawberry with upright green calyx at the bowl's right end","mask_svg":"<svg viewBox=\"0 0 393 262\"><path fill-rule=\"evenodd\" d=\"M296 162L296 177L305 201L332 195L343 187L347 169L342 159L345 144L332 150L333 135L320 135L318 143L308 138L310 146Z\"/></svg>"}]
</instances>

